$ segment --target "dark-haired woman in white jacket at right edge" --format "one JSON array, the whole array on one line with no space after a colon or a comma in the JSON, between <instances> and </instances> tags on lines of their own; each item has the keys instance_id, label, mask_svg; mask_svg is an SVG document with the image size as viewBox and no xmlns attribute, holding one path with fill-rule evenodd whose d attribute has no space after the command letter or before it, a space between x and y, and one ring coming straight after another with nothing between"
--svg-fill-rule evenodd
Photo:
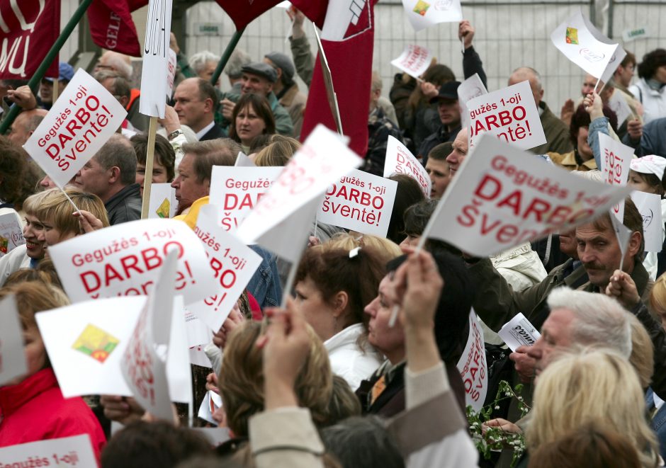
<instances>
[{"instance_id":1,"label":"dark-haired woman in white jacket at right edge","mask_svg":"<svg viewBox=\"0 0 666 468\"><path fill-rule=\"evenodd\" d=\"M655 49L643 55L638 76L640 79L629 86L629 91L643 104L643 123L666 117L666 50Z\"/></svg>"}]
</instances>

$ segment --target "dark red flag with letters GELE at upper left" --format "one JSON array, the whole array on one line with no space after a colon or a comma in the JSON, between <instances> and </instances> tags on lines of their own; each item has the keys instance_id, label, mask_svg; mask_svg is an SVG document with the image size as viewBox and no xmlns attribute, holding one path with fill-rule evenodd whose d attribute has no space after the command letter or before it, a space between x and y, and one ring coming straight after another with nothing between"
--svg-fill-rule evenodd
<instances>
[{"instance_id":1,"label":"dark red flag with letters GELE at upper left","mask_svg":"<svg viewBox=\"0 0 666 468\"><path fill-rule=\"evenodd\" d=\"M148 0L94 0L88 7L93 42L103 49L141 57L132 11L147 4Z\"/></svg>"}]
</instances>

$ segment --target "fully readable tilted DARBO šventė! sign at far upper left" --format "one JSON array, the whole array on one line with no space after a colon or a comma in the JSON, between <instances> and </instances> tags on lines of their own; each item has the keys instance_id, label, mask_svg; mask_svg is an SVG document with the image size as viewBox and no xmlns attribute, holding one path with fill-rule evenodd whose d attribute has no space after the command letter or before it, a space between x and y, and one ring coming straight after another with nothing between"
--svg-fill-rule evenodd
<instances>
[{"instance_id":1,"label":"fully readable tilted DARBO \u0161vent\u0117! sign at far upper left","mask_svg":"<svg viewBox=\"0 0 666 468\"><path fill-rule=\"evenodd\" d=\"M79 68L23 148L62 188L118 130L126 115L115 96Z\"/></svg>"}]
</instances>

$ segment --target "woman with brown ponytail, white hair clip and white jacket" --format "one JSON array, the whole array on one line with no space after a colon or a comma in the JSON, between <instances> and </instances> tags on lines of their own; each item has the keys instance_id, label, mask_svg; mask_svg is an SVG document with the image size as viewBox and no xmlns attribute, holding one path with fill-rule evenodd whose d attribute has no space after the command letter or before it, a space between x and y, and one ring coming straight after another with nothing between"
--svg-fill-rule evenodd
<instances>
[{"instance_id":1,"label":"woman with brown ponytail, white hair clip and white jacket","mask_svg":"<svg viewBox=\"0 0 666 468\"><path fill-rule=\"evenodd\" d=\"M295 278L295 308L324 342L333 373L352 390L380 365L367 341L363 307L384 275L381 254L371 246L349 251L322 244L305 251Z\"/></svg>"}]
</instances>

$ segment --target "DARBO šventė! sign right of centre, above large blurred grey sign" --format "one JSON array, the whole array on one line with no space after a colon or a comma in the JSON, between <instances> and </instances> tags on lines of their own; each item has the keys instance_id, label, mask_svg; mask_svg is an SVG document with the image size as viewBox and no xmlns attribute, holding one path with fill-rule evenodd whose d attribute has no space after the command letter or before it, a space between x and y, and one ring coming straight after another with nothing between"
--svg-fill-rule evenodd
<instances>
[{"instance_id":1,"label":"DARBO \u0161vent\u0117! sign right of centre, above large blurred grey sign","mask_svg":"<svg viewBox=\"0 0 666 468\"><path fill-rule=\"evenodd\" d=\"M488 133L521 149L546 143L529 81L483 94L467 103L470 148Z\"/></svg>"}]
</instances>

